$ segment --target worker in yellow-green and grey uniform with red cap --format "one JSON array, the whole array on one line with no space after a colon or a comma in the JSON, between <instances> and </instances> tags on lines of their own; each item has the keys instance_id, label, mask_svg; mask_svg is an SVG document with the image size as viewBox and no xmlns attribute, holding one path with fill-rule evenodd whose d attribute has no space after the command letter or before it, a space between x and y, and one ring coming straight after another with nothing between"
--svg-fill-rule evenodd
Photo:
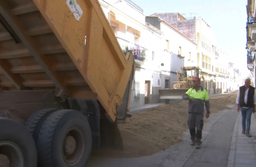
<instances>
[{"instance_id":1,"label":"worker in yellow-green and grey uniform with red cap","mask_svg":"<svg viewBox=\"0 0 256 167\"><path fill-rule=\"evenodd\" d=\"M201 148L202 144L202 127L204 126L204 103L207 111L206 118L210 116L210 102L207 91L200 86L201 79L193 78L193 88L190 88L183 95L183 100L189 100L189 118L187 124L189 126L192 143L196 148Z\"/></svg>"}]
</instances>

